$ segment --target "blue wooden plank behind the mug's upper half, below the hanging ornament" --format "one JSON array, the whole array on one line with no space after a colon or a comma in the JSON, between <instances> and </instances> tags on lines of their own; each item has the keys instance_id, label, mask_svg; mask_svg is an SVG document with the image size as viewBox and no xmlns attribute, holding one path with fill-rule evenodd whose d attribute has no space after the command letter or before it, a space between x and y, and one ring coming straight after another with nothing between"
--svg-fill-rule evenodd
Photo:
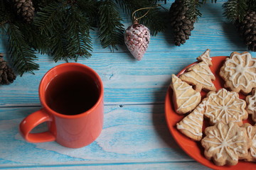
<instances>
[{"instance_id":1,"label":"blue wooden plank behind the mug's upper half, below the hanging ornament","mask_svg":"<svg viewBox=\"0 0 256 170\"><path fill-rule=\"evenodd\" d=\"M171 74L196 62L204 50L189 52L148 52L137 62L127 53L97 53L79 60L100 74L105 86L105 104L164 103ZM232 51L211 51L211 56L230 55ZM256 53L252 53L256 57ZM43 74L63 63L39 55L40 70L17 77L14 84L0 86L0 106L40 106L38 85Z\"/></svg>"}]
</instances>

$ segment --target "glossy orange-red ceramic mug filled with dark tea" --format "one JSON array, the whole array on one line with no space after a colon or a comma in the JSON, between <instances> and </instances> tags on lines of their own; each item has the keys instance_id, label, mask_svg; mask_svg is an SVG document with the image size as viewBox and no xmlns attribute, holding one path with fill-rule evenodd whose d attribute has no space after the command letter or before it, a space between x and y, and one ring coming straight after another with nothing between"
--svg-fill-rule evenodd
<instances>
[{"instance_id":1,"label":"glossy orange-red ceramic mug filled with dark tea","mask_svg":"<svg viewBox=\"0 0 256 170\"><path fill-rule=\"evenodd\" d=\"M24 118L19 126L28 142L55 141L79 148L96 140L103 125L103 84L90 67L79 63L60 64L50 69L39 85L41 108ZM33 133L47 122L48 131Z\"/></svg>"}]
</instances>

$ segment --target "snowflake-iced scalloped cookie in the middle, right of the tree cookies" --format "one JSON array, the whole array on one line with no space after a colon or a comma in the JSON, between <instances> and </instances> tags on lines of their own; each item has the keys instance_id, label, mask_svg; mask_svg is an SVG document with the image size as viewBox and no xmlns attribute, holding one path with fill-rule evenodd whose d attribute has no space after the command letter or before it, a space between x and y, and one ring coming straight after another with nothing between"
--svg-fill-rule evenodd
<instances>
[{"instance_id":1,"label":"snowflake-iced scalloped cookie in the middle, right of the tree cookies","mask_svg":"<svg viewBox=\"0 0 256 170\"><path fill-rule=\"evenodd\" d=\"M225 124L235 122L242 125L242 120L248 118L245 107L246 102L239 98L238 93L220 89L207 94L204 115L210 118L211 125L220 121Z\"/></svg>"}]
</instances>

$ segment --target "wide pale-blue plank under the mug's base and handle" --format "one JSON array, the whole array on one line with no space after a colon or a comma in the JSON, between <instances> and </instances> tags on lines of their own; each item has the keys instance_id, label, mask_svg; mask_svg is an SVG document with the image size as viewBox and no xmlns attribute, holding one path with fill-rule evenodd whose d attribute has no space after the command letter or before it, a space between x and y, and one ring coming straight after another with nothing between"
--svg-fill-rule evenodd
<instances>
[{"instance_id":1,"label":"wide pale-blue plank under the mug's base and handle","mask_svg":"<svg viewBox=\"0 0 256 170\"><path fill-rule=\"evenodd\" d=\"M193 162L167 128L164 105L105 106L104 128L87 147L70 149L56 142L28 143L18 124L37 107L1 108L0 168L58 164L116 164L129 162ZM45 130L38 126L36 131Z\"/></svg>"}]
</instances>

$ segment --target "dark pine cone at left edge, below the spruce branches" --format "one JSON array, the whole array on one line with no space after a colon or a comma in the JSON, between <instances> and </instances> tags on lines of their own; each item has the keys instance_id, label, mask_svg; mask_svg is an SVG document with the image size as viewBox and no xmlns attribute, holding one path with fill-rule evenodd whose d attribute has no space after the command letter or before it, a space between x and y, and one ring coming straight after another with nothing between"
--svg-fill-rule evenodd
<instances>
[{"instance_id":1,"label":"dark pine cone at left edge, below the spruce branches","mask_svg":"<svg viewBox=\"0 0 256 170\"><path fill-rule=\"evenodd\" d=\"M15 79L13 70L4 61L3 54L0 54L0 84L11 84Z\"/></svg>"}]
</instances>

